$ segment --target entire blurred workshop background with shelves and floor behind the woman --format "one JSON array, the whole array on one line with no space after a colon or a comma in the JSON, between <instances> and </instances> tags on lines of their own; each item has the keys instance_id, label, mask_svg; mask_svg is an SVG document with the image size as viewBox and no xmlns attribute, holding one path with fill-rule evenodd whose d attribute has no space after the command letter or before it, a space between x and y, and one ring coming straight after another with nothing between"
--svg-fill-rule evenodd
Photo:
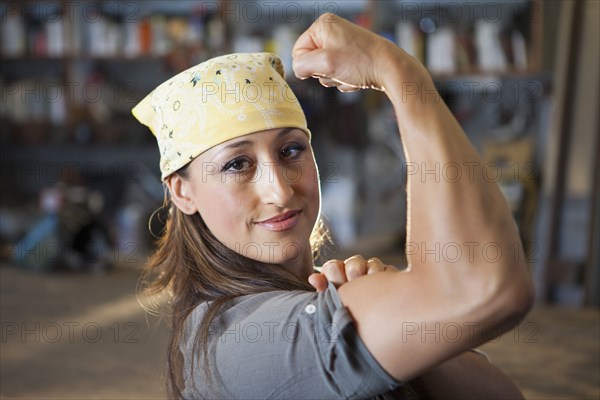
<instances>
[{"instance_id":1,"label":"entire blurred workshop background with shelves and floor behind the woman","mask_svg":"<svg viewBox=\"0 0 600 400\"><path fill-rule=\"evenodd\" d=\"M390 103L291 73L296 38L327 11L423 61L513 210L537 303L484 349L527 398L600 398L600 2L0 4L2 398L165 397L167 323L135 297L163 188L130 110L210 57L282 56L335 241L322 258L405 263L415 171Z\"/></svg>"}]
</instances>

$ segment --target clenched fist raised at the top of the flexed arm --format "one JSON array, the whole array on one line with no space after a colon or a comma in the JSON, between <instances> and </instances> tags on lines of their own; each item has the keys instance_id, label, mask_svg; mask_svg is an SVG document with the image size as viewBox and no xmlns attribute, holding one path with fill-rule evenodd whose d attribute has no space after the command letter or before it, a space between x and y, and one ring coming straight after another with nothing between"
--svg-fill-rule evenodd
<instances>
[{"instance_id":1,"label":"clenched fist raised at the top of the flexed arm","mask_svg":"<svg viewBox=\"0 0 600 400\"><path fill-rule=\"evenodd\" d=\"M299 79L319 78L342 92L384 90L386 65L397 56L412 58L389 40L332 13L319 17L292 50Z\"/></svg>"}]
</instances>

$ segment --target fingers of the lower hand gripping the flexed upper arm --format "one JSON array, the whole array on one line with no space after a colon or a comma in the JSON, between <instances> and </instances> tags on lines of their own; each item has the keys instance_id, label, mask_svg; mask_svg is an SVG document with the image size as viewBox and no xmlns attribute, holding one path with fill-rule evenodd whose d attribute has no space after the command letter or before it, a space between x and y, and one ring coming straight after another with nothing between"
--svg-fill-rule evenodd
<instances>
[{"instance_id":1,"label":"fingers of the lower hand gripping the flexed upper arm","mask_svg":"<svg viewBox=\"0 0 600 400\"><path fill-rule=\"evenodd\" d=\"M369 258L365 260L363 256L357 254L345 261L329 260L321 268L321 273L315 272L308 277L308 282L317 289L317 292L324 292L327 289L328 282L335 287L350 282L363 275L371 275L376 272L397 272L398 268L393 265L384 264L379 258Z\"/></svg>"}]
</instances>

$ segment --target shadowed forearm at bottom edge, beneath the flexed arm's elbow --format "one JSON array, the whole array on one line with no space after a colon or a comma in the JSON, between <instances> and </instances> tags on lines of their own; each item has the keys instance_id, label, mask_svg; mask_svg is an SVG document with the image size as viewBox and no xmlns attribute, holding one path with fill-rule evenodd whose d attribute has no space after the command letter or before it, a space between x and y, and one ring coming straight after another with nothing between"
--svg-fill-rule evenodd
<instances>
[{"instance_id":1,"label":"shadowed forearm at bottom edge, beneath the flexed arm's elbow","mask_svg":"<svg viewBox=\"0 0 600 400\"><path fill-rule=\"evenodd\" d=\"M430 369L411 385L432 400L523 399L519 388L500 369L471 352Z\"/></svg>"}]
</instances>

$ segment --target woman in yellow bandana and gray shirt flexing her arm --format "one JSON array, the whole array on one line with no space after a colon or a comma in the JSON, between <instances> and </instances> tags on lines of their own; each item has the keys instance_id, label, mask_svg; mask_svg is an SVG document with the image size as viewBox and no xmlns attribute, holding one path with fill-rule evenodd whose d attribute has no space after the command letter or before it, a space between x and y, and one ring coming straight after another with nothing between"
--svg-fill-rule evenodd
<instances>
[{"instance_id":1,"label":"woman in yellow bandana and gray shirt flexing her arm","mask_svg":"<svg viewBox=\"0 0 600 400\"><path fill-rule=\"evenodd\" d=\"M304 32L292 55L300 79L385 91L413 165L472 173L409 176L407 271L357 256L315 274L318 172L278 58L218 57L160 85L133 113L157 137L170 198L147 265L150 289L172 294L170 395L402 398L418 386L433 398L520 397L466 352L515 326L532 304L524 258L481 251L493 244L508 254L517 229L429 74L333 14ZM449 246L462 256L440 258Z\"/></svg>"}]
</instances>

